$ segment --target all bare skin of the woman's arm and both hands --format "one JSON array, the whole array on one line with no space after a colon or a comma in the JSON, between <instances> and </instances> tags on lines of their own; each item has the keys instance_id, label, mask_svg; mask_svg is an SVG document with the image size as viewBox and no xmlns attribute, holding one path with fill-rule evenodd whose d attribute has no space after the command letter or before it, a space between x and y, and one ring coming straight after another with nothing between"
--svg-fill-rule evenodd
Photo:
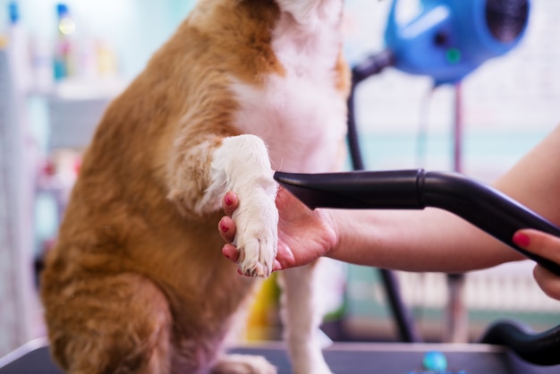
<instances>
[{"instance_id":1,"label":"all bare skin of the woman's arm and both hands","mask_svg":"<svg viewBox=\"0 0 560 374\"><path fill-rule=\"evenodd\" d=\"M560 126L542 140L494 187L560 225ZM219 232L224 255L237 261L233 210L242 203L228 192ZM460 217L437 208L424 210L310 210L288 191L276 197L280 213L274 270L301 266L321 256L377 268L465 272L524 259L503 242ZM560 263L560 238L532 229L513 235L523 249ZM536 265L534 276L560 300L560 277Z\"/></svg>"}]
</instances>

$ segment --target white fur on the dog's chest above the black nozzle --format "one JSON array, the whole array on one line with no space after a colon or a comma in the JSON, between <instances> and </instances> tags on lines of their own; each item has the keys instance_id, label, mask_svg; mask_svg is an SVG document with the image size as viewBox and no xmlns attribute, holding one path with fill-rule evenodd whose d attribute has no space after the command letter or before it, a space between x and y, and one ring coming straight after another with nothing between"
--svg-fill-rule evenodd
<instances>
[{"instance_id":1,"label":"white fur on the dog's chest above the black nozzle","mask_svg":"<svg viewBox=\"0 0 560 374\"><path fill-rule=\"evenodd\" d=\"M339 7L312 13L305 24L283 13L272 47L285 75L267 76L259 89L233 83L241 103L235 125L265 140L276 170L332 171L338 156L346 122L343 93L334 83L341 43Z\"/></svg>"}]
</instances>

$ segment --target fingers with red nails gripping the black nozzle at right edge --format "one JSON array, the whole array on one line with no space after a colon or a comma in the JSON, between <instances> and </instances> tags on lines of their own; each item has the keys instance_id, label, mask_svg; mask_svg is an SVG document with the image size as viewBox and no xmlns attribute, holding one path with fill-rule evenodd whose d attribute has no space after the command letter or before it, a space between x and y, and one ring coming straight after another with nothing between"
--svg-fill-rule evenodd
<instances>
[{"instance_id":1,"label":"fingers with red nails gripping the black nozzle at right edge","mask_svg":"<svg viewBox=\"0 0 560 374\"><path fill-rule=\"evenodd\" d=\"M538 230L523 229L513 234L513 242L522 249L560 264L560 238ZM560 300L560 276L537 265L533 275L548 296Z\"/></svg>"}]
</instances>

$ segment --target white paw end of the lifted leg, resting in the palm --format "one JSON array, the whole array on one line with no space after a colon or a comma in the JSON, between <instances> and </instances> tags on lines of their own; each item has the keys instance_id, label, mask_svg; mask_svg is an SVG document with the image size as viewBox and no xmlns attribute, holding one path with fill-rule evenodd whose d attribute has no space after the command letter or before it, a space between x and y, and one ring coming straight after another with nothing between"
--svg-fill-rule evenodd
<instances>
[{"instance_id":1,"label":"white paw end of the lifted leg, resting in the palm","mask_svg":"<svg viewBox=\"0 0 560 374\"><path fill-rule=\"evenodd\" d=\"M267 277L272 272L278 242L276 193L258 190L242 195L240 208L233 213L239 270L245 276Z\"/></svg>"}]
</instances>

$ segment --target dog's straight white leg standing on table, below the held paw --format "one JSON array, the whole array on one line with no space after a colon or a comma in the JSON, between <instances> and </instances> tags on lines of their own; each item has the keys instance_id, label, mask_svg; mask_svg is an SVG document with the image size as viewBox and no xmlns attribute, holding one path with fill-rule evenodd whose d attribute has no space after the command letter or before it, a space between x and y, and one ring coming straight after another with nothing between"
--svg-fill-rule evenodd
<instances>
[{"instance_id":1,"label":"dog's straight white leg standing on table, below the held paw","mask_svg":"<svg viewBox=\"0 0 560 374\"><path fill-rule=\"evenodd\" d=\"M295 374L331 373L318 339L324 311L319 299L315 266L316 263L312 263L279 273L284 339Z\"/></svg>"}]
</instances>

